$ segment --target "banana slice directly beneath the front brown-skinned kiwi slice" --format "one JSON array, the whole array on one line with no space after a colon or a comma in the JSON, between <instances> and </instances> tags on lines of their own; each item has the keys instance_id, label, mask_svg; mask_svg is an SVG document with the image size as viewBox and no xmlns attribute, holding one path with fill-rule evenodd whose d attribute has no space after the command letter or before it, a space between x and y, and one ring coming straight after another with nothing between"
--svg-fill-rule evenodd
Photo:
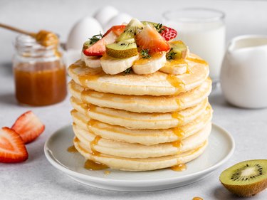
<instances>
[{"instance_id":1,"label":"banana slice directly beneath the front brown-skinned kiwi slice","mask_svg":"<svg viewBox=\"0 0 267 200\"><path fill-rule=\"evenodd\" d=\"M102 58L100 58L100 63L105 73L114 75L130 68L137 59L138 55L122 59L112 58L111 56L105 54Z\"/></svg>"}]
</instances>

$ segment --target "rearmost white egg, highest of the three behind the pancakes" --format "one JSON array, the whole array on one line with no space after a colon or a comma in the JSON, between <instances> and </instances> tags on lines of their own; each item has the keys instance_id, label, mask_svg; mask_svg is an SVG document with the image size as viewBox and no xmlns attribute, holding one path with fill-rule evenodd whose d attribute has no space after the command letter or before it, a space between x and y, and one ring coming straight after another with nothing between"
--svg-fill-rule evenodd
<instances>
[{"instance_id":1,"label":"rearmost white egg, highest of the three behind the pancakes","mask_svg":"<svg viewBox=\"0 0 267 200\"><path fill-rule=\"evenodd\" d=\"M96 11L94 17L99 21L99 23L101 23L102 26L104 26L105 23L108 23L112 17L117 16L118 14L119 11L113 6L105 6Z\"/></svg>"}]
</instances>

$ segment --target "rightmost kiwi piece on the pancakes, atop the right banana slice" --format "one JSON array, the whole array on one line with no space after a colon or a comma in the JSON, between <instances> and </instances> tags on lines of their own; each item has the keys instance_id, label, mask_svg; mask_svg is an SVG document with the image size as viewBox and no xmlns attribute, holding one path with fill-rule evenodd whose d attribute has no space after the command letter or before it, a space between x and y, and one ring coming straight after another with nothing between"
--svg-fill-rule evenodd
<instances>
[{"instance_id":1,"label":"rightmost kiwi piece on the pancakes, atop the right banana slice","mask_svg":"<svg viewBox=\"0 0 267 200\"><path fill-rule=\"evenodd\" d=\"M187 56L187 46L182 41L169 42L170 51L167 53L167 60L184 59Z\"/></svg>"}]
</instances>

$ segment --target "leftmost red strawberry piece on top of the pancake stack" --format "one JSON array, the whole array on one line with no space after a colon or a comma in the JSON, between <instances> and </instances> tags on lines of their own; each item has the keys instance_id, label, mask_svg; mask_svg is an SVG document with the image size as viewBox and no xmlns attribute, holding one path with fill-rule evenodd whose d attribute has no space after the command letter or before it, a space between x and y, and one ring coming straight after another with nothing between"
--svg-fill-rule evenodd
<instances>
[{"instance_id":1,"label":"leftmost red strawberry piece on top of the pancake stack","mask_svg":"<svg viewBox=\"0 0 267 200\"><path fill-rule=\"evenodd\" d=\"M94 43L92 46L83 50L83 53L85 56L103 56L105 53L105 45L114 43L116 38L117 35L113 33L113 31L110 31L110 33L107 33L107 35Z\"/></svg>"}]
</instances>

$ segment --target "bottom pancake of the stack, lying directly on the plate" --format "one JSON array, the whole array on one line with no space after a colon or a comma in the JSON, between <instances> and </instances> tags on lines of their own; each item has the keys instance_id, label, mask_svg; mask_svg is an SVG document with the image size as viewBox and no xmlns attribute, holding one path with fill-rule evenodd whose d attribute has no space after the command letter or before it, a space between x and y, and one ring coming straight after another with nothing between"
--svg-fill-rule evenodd
<instances>
[{"instance_id":1,"label":"bottom pancake of the stack, lying directly on the plate","mask_svg":"<svg viewBox=\"0 0 267 200\"><path fill-rule=\"evenodd\" d=\"M184 164L192 161L204 152L208 141L206 140L206 142L203 142L197 149L189 152L147 159L114 157L107 154L93 155L90 154L90 147L80 142L77 137L74 138L73 143L75 148L83 155L83 157L85 157L85 159L106 164L112 169L120 169L124 171L149 171L172 167L177 164Z\"/></svg>"}]
</instances>

